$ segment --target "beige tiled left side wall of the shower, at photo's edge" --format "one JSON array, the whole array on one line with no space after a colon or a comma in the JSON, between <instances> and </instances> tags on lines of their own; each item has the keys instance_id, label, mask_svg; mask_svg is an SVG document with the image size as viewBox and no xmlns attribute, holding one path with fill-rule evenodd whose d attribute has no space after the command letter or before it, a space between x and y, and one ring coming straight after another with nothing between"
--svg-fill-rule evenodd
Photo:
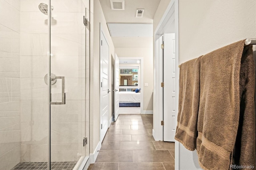
<instances>
[{"instance_id":1,"label":"beige tiled left side wall of the shower, at photo's edge","mask_svg":"<svg viewBox=\"0 0 256 170\"><path fill-rule=\"evenodd\" d=\"M0 0L0 169L20 162L20 2Z\"/></svg>"}]
</instances>

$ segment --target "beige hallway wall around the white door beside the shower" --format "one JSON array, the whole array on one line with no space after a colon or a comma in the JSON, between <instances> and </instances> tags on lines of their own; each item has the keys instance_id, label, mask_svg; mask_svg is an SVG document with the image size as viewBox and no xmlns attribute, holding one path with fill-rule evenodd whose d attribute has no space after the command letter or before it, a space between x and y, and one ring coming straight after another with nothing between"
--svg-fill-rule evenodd
<instances>
[{"instance_id":1,"label":"beige hallway wall around the white door beside the shower","mask_svg":"<svg viewBox=\"0 0 256 170\"><path fill-rule=\"evenodd\" d=\"M91 55L90 55L90 153L94 153L100 142L100 23L109 45L109 87L111 87L111 55L114 56L114 45L99 0L91 0ZM92 10L93 8L93 10ZM93 21L92 21L93 20ZM111 102L112 93L109 95ZM109 105L109 119L112 116L112 105Z\"/></svg>"}]
</instances>

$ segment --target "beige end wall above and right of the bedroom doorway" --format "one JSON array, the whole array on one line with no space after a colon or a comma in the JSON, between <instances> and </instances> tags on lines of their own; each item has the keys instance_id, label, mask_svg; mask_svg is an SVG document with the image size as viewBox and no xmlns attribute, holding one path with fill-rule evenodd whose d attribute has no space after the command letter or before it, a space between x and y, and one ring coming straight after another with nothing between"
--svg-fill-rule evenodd
<instances>
[{"instance_id":1,"label":"beige end wall above and right of the bedroom doorway","mask_svg":"<svg viewBox=\"0 0 256 170\"><path fill-rule=\"evenodd\" d=\"M153 40L153 39L152 39ZM153 44L149 48L115 48L118 57L143 57L143 110L153 110ZM142 85L144 86L144 84Z\"/></svg>"}]
</instances>

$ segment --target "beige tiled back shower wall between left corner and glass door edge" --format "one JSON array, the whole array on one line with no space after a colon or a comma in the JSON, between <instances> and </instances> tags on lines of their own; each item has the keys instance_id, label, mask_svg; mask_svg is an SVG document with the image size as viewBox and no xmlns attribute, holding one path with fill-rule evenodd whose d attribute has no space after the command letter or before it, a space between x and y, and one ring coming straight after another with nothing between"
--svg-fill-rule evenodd
<instances>
[{"instance_id":1,"label":"beige tiled back shower wall between left corner and glass door edge","mask_svg":"<svg viewBox=\"0 0 256 170\"><path fill-rule=\"evenodd\" d=\"M20 1L21 162L48 158L48 27L40 3L48 1Z\"/></svg>"}]
</instances>

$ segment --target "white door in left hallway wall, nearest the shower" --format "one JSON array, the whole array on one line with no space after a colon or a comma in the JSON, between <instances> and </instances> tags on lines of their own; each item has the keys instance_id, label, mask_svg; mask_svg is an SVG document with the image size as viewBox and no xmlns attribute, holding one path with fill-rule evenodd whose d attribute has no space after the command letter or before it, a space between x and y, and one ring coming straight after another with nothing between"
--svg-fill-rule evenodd
<instances>
[{"instance_id":1,"label":"white door in left hallway wall, nearest the shower","mask_svg":"<svg viewBox=\"0 0 256 170\"><path fill-rule=\"evenodd\" d=\"M100 141L102 142L108 130L108 105L109 105L109 87L108 87L108 59L109 46L100 32Z\"/></svg>"}]
</instances>

